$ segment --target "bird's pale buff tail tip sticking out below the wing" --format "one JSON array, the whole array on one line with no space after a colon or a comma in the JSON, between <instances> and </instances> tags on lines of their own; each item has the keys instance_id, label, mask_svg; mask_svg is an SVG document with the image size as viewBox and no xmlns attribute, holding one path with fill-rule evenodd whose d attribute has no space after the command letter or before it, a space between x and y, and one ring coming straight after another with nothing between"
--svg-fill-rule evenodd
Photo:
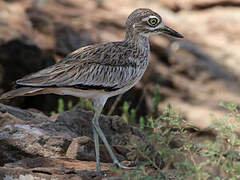
<instances>
[{"instance_id":1,"label":"bird's pale buff tail tip sticking out below the wing","mask_svg":"<svg viewBox=\"0 0 240 180\"><path fill-rule=\"evenodd\" d=\"M18 89L14 89L12 91L8 91L0 96L1 99L11 99L17 96L33 96L37 94L41 94L44 88L33 88L33 87L21 87Z\"/></svg>"}]
</instances>

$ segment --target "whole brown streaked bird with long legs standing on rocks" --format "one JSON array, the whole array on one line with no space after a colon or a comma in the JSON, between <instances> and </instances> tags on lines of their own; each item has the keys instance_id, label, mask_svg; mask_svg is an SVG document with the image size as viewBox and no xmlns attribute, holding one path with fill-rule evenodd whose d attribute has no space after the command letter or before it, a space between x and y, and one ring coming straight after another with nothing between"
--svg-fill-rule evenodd
<instances>
[{"instance_id":1,"label":"whole brown streaked bird with long legs standing on rocks","mask_svg":"<svg viewBox=\"0 0 240 180\"><path fill-rule=\"evenodd\" d=\"M92 100L92 119L96 171L101 173L99 137L110 154L113 164L127 169L113 153L99 117L108 98L128 91L142 78L149 63L149 36L166 34L175 38L183 35L164 24L162 17L148 8L138 8L127 18L125 39L97 43L79 48L56 64L16 81L16 89L0 99L39 94L58 94Z\"/></svg>"}]
</instances>

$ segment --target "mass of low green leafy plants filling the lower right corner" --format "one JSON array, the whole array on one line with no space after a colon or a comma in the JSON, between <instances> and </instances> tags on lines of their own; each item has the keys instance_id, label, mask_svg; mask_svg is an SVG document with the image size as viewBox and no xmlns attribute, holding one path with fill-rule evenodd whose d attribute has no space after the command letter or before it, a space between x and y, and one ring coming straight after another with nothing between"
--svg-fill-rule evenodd
<instances>
[{"instance_id":1,"label":"mass of low green leafy plants filling the lower right corner","mask_svg":"<svg viewBox=\"0 0 240 180\"><path fill-rule=\"evenodd\" d=\"M140 127L146 131L156 152L138 141L129 144L132 150L129 155L137 161L144 159L145 163L126 172L124 179L240 179L240 112L235 103L220 106L228 112L223 118L213 119L211 130L216 140L201 143L191 137L186 130L189 124L170 105L156 118L141 117ZM157 153L164 159L163 169L158 165Z\"/></svg>"}]
</instances>

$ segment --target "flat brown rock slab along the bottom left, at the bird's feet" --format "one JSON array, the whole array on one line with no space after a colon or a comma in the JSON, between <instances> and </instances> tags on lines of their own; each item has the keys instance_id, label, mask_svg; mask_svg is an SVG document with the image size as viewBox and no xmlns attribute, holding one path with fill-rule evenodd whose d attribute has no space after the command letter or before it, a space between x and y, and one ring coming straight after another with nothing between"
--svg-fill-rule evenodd
<instances>
[{"instance_id":1,"label":"flat brown rock slab along the bottom left, at the bird's feet","mask_svg":"<svg viewBox=\"0 0 240 180\"><path fill-rule=\"evenodd\" d=\"M112 166L109 163L101 165L103 171ZM0 177L5 178L4 180L14 180L14 178L20 180L24 178L27 180L52 180L52 178L56 180L90 180L97 176L95 169L95 162L67 158L25 158L0 167Z\"/></svg>"}]
</instances>

